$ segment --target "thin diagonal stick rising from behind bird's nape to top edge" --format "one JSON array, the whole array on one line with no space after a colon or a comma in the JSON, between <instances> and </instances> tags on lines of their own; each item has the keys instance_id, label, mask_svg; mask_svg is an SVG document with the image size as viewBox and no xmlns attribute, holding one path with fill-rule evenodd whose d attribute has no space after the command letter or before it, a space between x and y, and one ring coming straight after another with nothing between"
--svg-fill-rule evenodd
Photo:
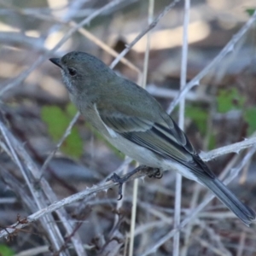
<instances>
[{"instance_id":1,"label":"thin diagonal stick rising from behind bird's nape to top edge","mask_svg":"<svg viewBox=\"0 0 256 256\"><path fill-rule=\"evenodd\" d=\"M128 51L135 45L137 44L138 40L140 40L141 38L143 38L143 36L149 32L150 30L152 30L154 28L154 26L157 25L157 23L159 22L159 20L161 18L163 18L169 11L170 9L172 9L172 7L174 7L174 5L176 3L178 3L179 0L174 0L172 3L170 3L168 6L166 6L166 8L164 9L163 12L160 13L160 15L158 15L158 17L156 17L153 22L145 29L143 30L143 32L139 33L137 35L137 37L131 42L131 44L126 45L126 48L118 55L117 58L115 58L113 60L113 62L111 63L111 65L109 66L110 68L113 68L117 65L117 63L120 61L121 58L123 58Z\"/></svg>"}]
</instances>

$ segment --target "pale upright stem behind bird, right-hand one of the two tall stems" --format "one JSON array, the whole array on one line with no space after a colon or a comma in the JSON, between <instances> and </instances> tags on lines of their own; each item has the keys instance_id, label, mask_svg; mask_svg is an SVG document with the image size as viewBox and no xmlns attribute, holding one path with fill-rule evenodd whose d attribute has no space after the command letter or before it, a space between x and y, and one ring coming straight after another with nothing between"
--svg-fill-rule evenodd
<instances>
[{"instance_id":1,"label":"pale upright stem behind bird, right-hand one of the two tall stems","mask_svg":"<svg viewBox=\"0 0 256 256\"><path fill-rule=\"evenodd\" d=\"M186 84L187 79L187 62L188 62L188 32L189 32L189 0L185 0L184 3L184 18L183 18L183 48L182 48L182 64L180 73L180 90ZM180 129L184 129L184 112L185 112L185 100L182 99L179 102L179 112L178 112L178 125ZM182 180L183 177L180 173L176 173L176 184L175 184L175 212L174 212L174 228L177 229L180 224L180 214L181 214L181 201L182 201ZM173 256L179 255L179 237L180 233L177 232L173 237Z\"/></svg>"}]
</instances>

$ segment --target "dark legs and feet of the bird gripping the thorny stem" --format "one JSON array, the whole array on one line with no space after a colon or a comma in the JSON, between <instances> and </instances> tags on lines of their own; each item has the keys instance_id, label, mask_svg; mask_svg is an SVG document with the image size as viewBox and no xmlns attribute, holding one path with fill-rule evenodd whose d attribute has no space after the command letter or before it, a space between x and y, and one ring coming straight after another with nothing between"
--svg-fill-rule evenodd
<instances>
[{"instance_id":1,"label":"dark legs and feet of the bird gripping the thorny stem","mask_svg":"<svg viewBox=\"0 0 256 256\"><path fill-rule=\"evenodd\" d=\"M131 172L128 172L124 177L119 177L116 173L113 173L111 177L108 177L107 181L111 180L113 183L119 183L119 199L123 198L123 184L130 179L131 176L137 174L138 172L143 172L143 174L148 174L148 177L161 178L163 172L160 168L154 168L149 166L138 166ZM139 176L139 175L138 175Z\"/></svg>"}]
</instances>

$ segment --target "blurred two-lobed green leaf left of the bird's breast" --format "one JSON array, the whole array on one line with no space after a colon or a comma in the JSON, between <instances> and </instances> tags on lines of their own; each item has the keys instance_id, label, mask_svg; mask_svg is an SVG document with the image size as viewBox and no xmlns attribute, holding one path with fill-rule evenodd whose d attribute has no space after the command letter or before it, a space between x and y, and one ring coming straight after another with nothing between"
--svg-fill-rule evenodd
<instances>
[{"instance_id":1,"label":"blurred two-lobed green leaf left of the bird's breast","mask_svg":"<svg viewBox=\"0 0 256 256\"><path fill-rule=\"evenodd\" d=\"M73 116L73 113L76 113L76 110L72 106L67 106L67 111L63 111L56 106L45 106L42 108L41 118L46 123L49 135L55 143L61 139L67 130L67 126L71 121L70 115ZM61 150L75 158L79 158L83 154L83 142L79 135L78 127L73 126L70 135L61 145Z\"/></svg>"}]
</instances>

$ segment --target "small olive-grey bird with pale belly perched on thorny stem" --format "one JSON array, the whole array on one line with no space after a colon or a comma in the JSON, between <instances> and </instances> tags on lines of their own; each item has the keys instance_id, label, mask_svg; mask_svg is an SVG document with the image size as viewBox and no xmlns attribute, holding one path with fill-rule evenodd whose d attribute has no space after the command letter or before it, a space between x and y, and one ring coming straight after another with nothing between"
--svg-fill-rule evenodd
<instances>
[{"instance_id":1,"label":"small olive-grey bird with pale belly perched on thorny stem","mask_svg":"<svg viewBox=\"0 0 256 256\"><path fill-rule=\"evenodd\" d=\"M49 61L61 67L70 99L80 113L114 147L140 164L179 172L205 185L244 224L255 219L255 212L218 180L146 90L84 52L73 51Z\"/></svg>"}]
</instances>

